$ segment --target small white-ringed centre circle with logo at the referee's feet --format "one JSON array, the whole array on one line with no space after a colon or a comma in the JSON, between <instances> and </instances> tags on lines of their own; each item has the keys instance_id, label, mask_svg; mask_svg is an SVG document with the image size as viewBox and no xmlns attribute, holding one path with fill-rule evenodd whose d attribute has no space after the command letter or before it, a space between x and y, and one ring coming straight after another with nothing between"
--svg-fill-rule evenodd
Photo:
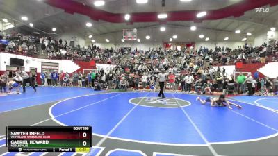
<instances>
[{"instance_id":1,"label":"small white-ringed centre circle with logo at the referee's feet","mask_svg":"<svg viewBox=\"0 0 278 156\"><path fill-rule=\"evenodd\" d=\"M185 107L190 105L188 101L179 98L140 97L132 98L129 102L145 107Z\"/></svg>"}]
</instances>

